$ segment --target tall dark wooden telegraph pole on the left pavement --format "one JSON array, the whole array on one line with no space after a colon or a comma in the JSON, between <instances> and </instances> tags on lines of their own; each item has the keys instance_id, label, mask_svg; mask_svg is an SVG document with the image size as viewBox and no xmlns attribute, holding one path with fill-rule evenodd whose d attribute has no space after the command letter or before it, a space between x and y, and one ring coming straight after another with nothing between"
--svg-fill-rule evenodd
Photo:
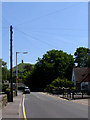
<instances>
[{"instance_id":1,"label":"tall dark wooden telegraph pole on the left pavement","mask_svg":"<svg viewBox=\"0 0 90 120\"><path fill-rule=\"evenodd\" d=\"M13 102L13 79L12 79L12 25L10 26L10 88L11 88L11 94L10 94L10 102Z\"/></svg>"}]
</instances>

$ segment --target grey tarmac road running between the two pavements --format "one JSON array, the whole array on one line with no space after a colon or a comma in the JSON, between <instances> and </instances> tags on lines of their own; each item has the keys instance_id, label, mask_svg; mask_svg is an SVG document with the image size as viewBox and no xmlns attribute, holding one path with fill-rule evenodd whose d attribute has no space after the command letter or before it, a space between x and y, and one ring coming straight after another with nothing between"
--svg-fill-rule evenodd
<instances>
[{"instance_id":1,"label":"grey tarmac road running between the two pavements","mask_svg":"<svg viewBox=\"0 0 90 120\"><path fill-rule=\"evenodd\" d=\"M40 92L25 94L26 118L88 118L88 106Z\"/></svg>"}]
</instances>

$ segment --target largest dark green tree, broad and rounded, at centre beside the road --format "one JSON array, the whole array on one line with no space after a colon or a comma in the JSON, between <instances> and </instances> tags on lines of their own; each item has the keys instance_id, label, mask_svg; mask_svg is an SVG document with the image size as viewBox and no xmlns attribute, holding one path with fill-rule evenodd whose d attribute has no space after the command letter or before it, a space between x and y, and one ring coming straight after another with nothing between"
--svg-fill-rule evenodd
<instances>
[{"instance_id":1,"label":"largest dark green tree, broad and rounded, at centre beside the road","mask_svg":"<svg viewBox=\"0 0 90 120\"><path fill-rule=\"evenodd\" d=\"M34 69L27 74L26 83L31 89L44 89L57 77L71 80L74 59L63 51L50 50L38 58Z\"/></svg>"}]
</instances>

